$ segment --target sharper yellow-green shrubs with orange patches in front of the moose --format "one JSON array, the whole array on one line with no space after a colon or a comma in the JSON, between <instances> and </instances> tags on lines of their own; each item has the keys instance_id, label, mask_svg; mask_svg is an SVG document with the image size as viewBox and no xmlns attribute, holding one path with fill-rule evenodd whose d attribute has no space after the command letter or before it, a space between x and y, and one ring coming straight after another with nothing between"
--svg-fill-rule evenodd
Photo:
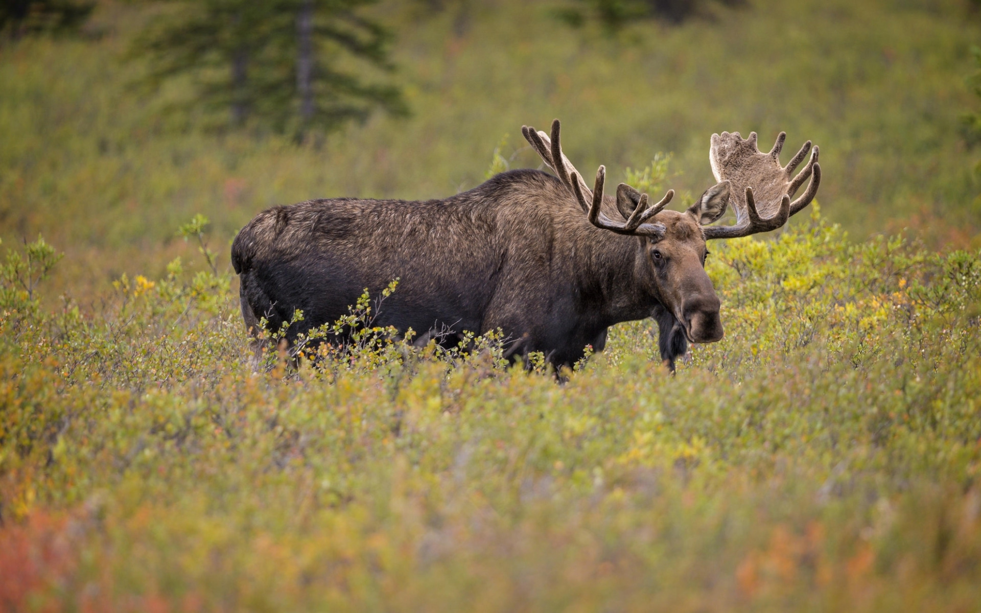
<instances>
[{"instance_id":1,"label":"sharper yellow-green shrubs with orange patches in front of the moose","mask_svg":"<svg viewBox=\"0 0 981 613\"><path fill-rule=\"evenodd\" d=\"M707 267L726 336L674 377L649 322L565 383L499 333L419 347L373 324L397 281L257 371L230 275L180 260L90 315L4 312L0 601L969 610L981 253L850 243L815 207Z\"/></svg>"}]
</instances>

